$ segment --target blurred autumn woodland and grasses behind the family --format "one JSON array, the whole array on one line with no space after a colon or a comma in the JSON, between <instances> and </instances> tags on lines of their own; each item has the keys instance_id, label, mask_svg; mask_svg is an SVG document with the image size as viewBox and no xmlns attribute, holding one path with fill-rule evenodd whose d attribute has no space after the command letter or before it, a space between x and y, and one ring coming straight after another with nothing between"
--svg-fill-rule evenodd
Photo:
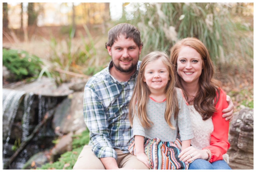
<instances>
[{"instance_id":1,"label":"blurred autumn woodland and grasses behind the family","mask_svg":"<svg viewBox=\"0 0 256 172\"><path fill-rule=\"evenodd\" d=\"M107 32L119 23L141 31L140 59L168 53L179 39L194 36L207 46L217 78L234 112L253 108L253 3L3 3L3 65L10 82L47 76L57 84L89 78L108 66ZM7 51L34 64L24 69ZM24 53L28 52L27 57Z\"/></svg>"}]
</instances>

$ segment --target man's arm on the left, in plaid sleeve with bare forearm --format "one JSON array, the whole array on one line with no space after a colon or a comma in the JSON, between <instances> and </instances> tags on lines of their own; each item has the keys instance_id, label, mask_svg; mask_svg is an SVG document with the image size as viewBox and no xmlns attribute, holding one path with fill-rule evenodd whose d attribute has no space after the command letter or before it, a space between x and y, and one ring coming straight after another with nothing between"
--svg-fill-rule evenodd
<instances>
[{"instance_id":1,"label":"man's arm on the left, in plaid sleeve with bare forearm","mask_svg":"<svg viewBox=\"0 0 256 172\"><path fill-rule=\"evenodd\" d=\"M93 153L100 158L106 169L117 167L117 155L112 146L108 131L108 119L103 104L94 90L84 90L84 121L90 131ZM113 163L110 163L113 162Z\"/></svg>"}]
</instances>

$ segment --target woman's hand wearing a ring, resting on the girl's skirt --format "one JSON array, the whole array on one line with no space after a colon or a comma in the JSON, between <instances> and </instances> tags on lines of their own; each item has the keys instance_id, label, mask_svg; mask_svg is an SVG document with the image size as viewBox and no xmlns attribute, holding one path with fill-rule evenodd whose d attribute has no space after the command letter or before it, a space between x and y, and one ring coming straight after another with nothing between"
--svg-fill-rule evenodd
<instances>
[{"instance_id":1,"label":"woman's hand wearing a ring, resting on the girl's skirt","mask_svg":"<svg viewBox=\"0 0 256 172\"><path fill-rule=\"evenodd\" d=\"M194 148L193 146L189 146L180 152L178 158L182 162L190 163L193 162L195 159L208 159L208 154L204 149L199 150Z\"/></svg>"}]
</instances>

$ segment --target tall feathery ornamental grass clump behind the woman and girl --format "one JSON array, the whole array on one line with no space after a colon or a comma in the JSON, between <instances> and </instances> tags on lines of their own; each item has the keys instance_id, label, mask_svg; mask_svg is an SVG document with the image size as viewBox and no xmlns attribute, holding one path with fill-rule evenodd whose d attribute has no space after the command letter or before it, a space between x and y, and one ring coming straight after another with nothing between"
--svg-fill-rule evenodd
<instances>
[{"instance_id":1,"label":"tall feathery ornamental grass clump behind the woman and girl","mask_svg":"<svg viewBox=\"0 0 256 172\"><path fill-rule=\"evenodd\" d=\"M237 61L238 57L233 56L235 51L242 56L239 59L253 59L253 41L236 35L227 3L144 3L144 6L146 14L137 10L130 21L141 31L142 56L156 49L170 52L179 39L197 37L206 45L215 64Z\"/></svg>"}]
</instances>

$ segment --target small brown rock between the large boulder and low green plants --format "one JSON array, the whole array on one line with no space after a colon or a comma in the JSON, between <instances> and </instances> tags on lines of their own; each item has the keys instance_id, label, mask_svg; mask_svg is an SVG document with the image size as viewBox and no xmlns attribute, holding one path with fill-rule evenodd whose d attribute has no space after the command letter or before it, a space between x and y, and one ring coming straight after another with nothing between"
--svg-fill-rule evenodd
<instances>
[{"instance_id":1,"label":"small brown rock between the large boulder and low green plants","mask_svg":"<svg viewBox=\"0 0 256 172\"><path fill-rule=\"evenodd\" d=\"M61 137L58 143L52 148L52 160L55 162L61 154L72 150L72 135L73 133L69 133Z\"/></svg>"}]
</instances>

